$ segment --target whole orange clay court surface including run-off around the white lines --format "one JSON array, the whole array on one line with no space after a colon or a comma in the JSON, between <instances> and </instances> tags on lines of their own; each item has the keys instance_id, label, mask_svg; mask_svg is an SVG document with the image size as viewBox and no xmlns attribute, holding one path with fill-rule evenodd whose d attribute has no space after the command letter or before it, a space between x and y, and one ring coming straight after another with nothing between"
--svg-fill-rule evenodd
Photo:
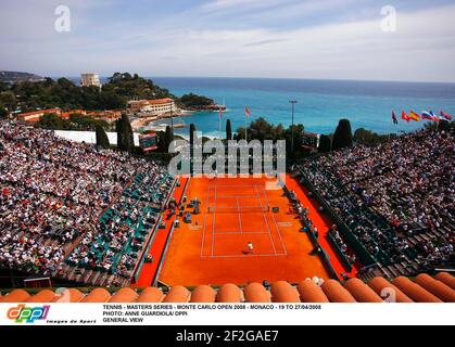
<instances>
[{"instance_id":1,"label":"whole orange clay court surface including run-off around the white lines","mask_svg":"<svg viewBox=\"0 0 455 347\"><path fill-rule=\"evenodd\" d=\"M267 190L266 182L266 177L192 178L186 196L201 202L201 214L191 215L191 223L180 220L174 230L160 282L197 286L329 279L319 257L309 255L312 243L300 232L283 190Z\"/></svg>"}]
</instances>

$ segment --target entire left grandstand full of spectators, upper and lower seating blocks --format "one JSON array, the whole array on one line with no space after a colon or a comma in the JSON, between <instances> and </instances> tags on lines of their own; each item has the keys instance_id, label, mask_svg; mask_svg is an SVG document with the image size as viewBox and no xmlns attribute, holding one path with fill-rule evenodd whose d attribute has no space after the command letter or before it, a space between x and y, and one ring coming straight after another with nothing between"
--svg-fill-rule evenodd
<instances>
[{"instance_id":1,"label":"entire left grandstand full of spectators, upper and lower seating blocks","mask_svg":"<svg viewBox=\"0 0 455 347\"><path fill-rule=\"evenodd\" d=\"M65 284L128 285L175 184L164 166L0 127L0 266Z\"/></svg>"}]
</instances>

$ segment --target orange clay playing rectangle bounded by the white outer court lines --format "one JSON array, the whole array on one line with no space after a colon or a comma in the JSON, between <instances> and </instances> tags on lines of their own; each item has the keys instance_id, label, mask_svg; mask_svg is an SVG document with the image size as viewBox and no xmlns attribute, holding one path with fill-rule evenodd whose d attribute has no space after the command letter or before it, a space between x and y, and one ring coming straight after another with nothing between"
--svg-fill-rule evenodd
<instances>
[{"instance_id":1,"label":"orange clay playing rectangle bounded by the white outer court lines","mask_svg":"<svg viewBox=\"0 0 455 347\"><path fill-rule=\"evenodd\" d=\"M206 206L201 257L287 255L264 185L210 184Z\"/></svg>"}]
</instances>

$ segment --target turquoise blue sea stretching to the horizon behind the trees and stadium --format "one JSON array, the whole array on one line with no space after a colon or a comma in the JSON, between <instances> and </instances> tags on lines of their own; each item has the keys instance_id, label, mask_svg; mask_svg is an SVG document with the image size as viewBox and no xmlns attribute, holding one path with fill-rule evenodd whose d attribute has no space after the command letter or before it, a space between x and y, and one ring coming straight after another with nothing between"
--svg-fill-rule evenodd
<instances>
[{"instance_id":1,"label":"turquoise blue sea stretching to the horizon behind the trees and stadium","mask_svg":"<svg viewBox=\"0 0 455 347\"><path fill-rule=\"evenodd\" d=\"M401 117L402 110L417 113L445 111L455 116L455 83L371 82L339 80L251 79L251 78L164 78L152 77L176 95L203 94L226 103L223 130L227 118L232 128L244 126L244 107L251 120L264 117L273 124L291 124L290 100L296 100L295 123L306 131L331 133L340 118L349 118L353 129L366 128L379 133L413 131L427 121L400 125L392 123L391 112ZM199 112L182 118L194 123L206 136L218 136L218 113ZM178 121L178 120L177 120ZM176 130L185 133L188 129Z\"/></svg>"}]
</instances>

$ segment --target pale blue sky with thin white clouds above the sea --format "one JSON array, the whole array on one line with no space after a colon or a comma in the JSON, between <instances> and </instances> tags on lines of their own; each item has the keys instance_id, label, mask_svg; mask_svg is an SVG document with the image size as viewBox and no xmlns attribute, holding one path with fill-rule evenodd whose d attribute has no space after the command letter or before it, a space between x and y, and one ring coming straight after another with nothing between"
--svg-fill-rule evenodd
<instances>
[{"instance_id":1,"label":"pale blue sky with thin white clouds above the sea","mask_svg":"<svg viewBox=\"0 0 455 347\"><path fill-rule=\"evenodd\" d=\"M0 70L455 82L454 17L455 0L1 0Z\"/></svg>"}]
</instances>

